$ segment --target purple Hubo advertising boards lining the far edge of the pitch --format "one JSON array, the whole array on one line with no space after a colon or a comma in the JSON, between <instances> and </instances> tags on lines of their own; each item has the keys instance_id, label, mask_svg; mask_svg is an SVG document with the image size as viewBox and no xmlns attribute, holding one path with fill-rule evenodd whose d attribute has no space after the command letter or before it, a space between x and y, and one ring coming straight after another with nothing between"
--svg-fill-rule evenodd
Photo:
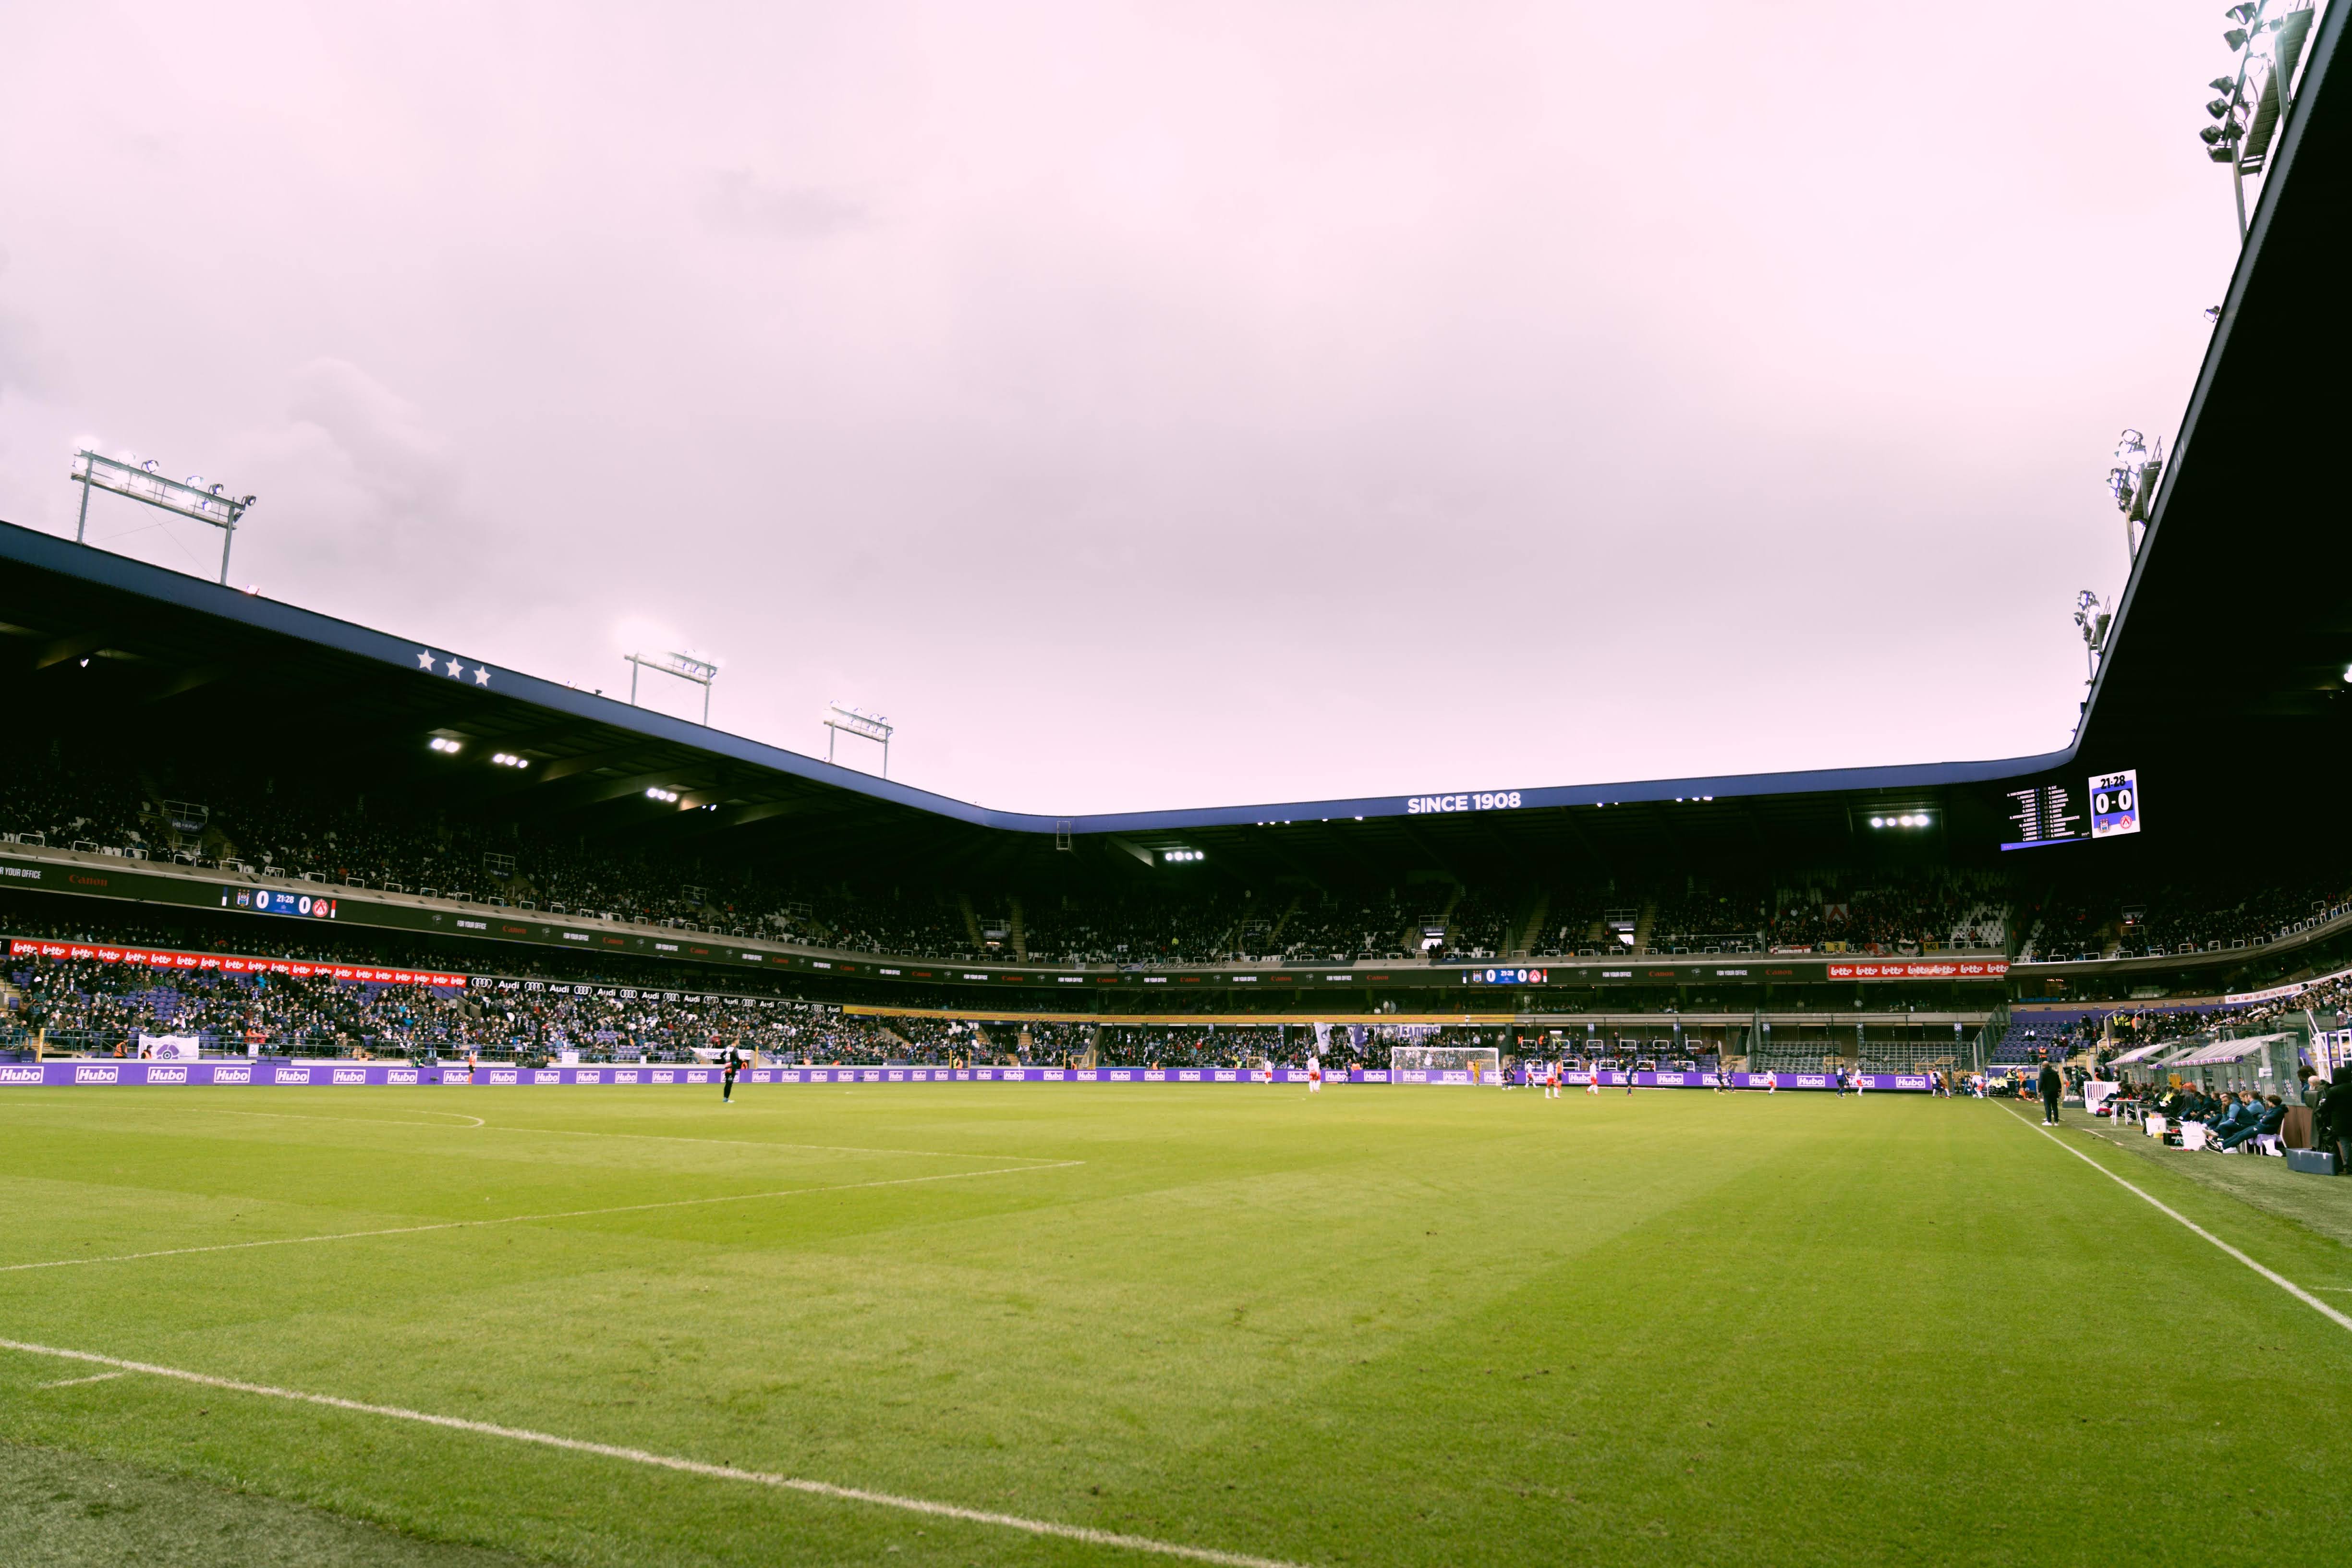
<instances>
[{"instance_id":1,"label":"purple Hubo advertising boards lining the far edge of the pitch","mask_svg":"<svg viewBox=\"0 0 2352 1568\"><path fill-rule=\"evenodd\" d=\"M597 1067L463 1067L416 1065L416 1063L353 1063L353 1060L198 1060L198 1063L141 1063L141 1060L52 1060L52 1063L0 1063L0 1088L73 1088L73 1086L191 1086L191 1088L717 1088L724 1074L717 1067L687 1065L597 1065ZM1411 1074L1397 1074L1406 1081ZM1712 1088L1708 1072L1635 1072L1635 1088ZM1762 1072L1733 1072L1731 1088L1764 1088ZM1599 1074L1604 1086L1623 1088L1628 1074ZM746 1067L743 1084L1235 1084L1268 1088L1263 1072L1244 1067ZM1275 1067L1275 1086L1303 1086L1303 1067ZM1327 1084L1388 1084L1385 1067L1334 1067ZM1522 1070L1517 1084L1529 1084ZM1585 1072L1562 1079L1583 1088ZM1778 1088L1837 1088L1825 1072L1783 1072ZM1865 1072L1865 1088L1924 1093L1926 1077L1910 1072Z\"/></svg>"}]
</instances>

